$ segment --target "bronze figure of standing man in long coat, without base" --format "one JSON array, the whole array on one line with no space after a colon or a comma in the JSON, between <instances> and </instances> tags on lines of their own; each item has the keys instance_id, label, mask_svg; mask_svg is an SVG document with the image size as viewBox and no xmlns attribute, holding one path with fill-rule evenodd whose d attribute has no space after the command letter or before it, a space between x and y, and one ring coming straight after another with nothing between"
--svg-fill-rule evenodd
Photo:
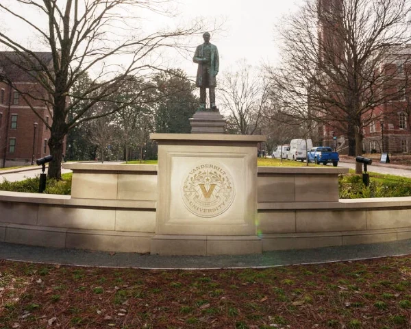
<instances>
[{"instance_id":1,"label":"bronze figure of standing man in long coat, without base","mask_svg":"<svg viewBox=\"0 0 411 329\"><path fill-rule=\"evenodd\" d=\"M195 49L192 61L199 64L195 85L200 87L200 110L206 110L206 88L210 90L210 108L216 107L216 75L219 73L219 51L210 43L210 33L203 34L204 43Z\"/></svg>"}]
</instances>

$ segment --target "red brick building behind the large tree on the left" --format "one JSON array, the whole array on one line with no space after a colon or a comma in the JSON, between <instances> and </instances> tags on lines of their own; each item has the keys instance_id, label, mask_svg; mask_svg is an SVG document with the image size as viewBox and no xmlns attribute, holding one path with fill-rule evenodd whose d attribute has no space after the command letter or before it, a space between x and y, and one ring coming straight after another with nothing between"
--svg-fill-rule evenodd
<instances>
[{"instance_id":1,"label":"red brick building behind the large tree on the left","mask_svg":"<svg viewBox=\"0 0 411 329\"><path fill-rule=\"evenodd\" d=\"M36 56L51 64L51 53ZM49 154L45 123L51 125L53 112L49 94L36 80L42 69L23 70L27 62L19 60L16 53L0 52L0 167L32 164Z\"/></svg>"}]
</instances>

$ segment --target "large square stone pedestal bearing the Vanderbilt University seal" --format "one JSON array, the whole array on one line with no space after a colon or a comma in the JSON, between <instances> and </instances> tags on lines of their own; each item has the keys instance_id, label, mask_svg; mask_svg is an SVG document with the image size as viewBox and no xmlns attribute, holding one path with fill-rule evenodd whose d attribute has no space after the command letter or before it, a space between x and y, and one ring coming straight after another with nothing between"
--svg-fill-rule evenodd
<instances>
[{"instance_id":1,"label":"large square stone pedestal bearing the Vanderbilt University seal","mask_svg":"<svg viewBox=\"0 0 411 329\"><path fill-rule=\"evenodd\" d=\"M257 145L264 136L151 134L158 198L151 254L262 252L257 236Z\"/></svg>"}]
</instances>

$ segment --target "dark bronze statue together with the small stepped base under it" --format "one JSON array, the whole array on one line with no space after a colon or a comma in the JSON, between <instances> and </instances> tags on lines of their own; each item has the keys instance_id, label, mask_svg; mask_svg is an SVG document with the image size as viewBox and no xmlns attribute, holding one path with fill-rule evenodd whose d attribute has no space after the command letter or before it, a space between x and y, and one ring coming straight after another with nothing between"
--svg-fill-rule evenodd
<instances>
[{"instance_id":1,"label":"dark bronze statue together with the small stepped base under it","mask_svg":"<svg viewBox=\"0 0 411 329\"><path fill-rule=\"evenodd\" d=\"M219 50L210 43L210 33L203 34L204 43L195 50L192 61L198 64L196 86L200 88L200 106L190 119L191 132L197 134L223 134L225 119L216 106L216 75L219 74ZM210 107L206 106L209 90Z\"/></svg>"}]
</instances>

